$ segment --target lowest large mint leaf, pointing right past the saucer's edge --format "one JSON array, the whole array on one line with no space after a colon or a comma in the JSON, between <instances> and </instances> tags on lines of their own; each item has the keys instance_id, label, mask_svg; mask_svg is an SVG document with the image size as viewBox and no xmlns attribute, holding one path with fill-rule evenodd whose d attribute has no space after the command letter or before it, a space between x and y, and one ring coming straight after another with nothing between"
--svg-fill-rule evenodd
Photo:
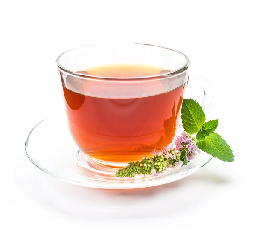
<instances>
[{"instance_id":1,"label":"lowest large mint leaf, pointing right past the saucer's edge","mask_svg":"<svg viewBox=\"0 0 256 232\"><path fill-rule=\"evenodd\" d=\"M234 155L230 146L216 133L211 133L209 136L205 137L204 140L197 141L196 144L198 148L213 157L226 162L234 161Z\"/></svg>"}]
</instances>

